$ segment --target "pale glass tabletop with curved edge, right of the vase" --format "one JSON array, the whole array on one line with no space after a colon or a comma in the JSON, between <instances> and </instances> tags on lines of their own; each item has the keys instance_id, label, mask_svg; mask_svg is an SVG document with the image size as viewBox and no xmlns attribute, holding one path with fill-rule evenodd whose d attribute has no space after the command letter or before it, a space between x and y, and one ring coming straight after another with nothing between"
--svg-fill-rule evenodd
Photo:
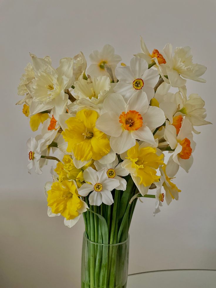
<instances>
[{"instance_id":1,"label":"pale glass tabletop with curved edge, right of the vase","mask_svg":"<svg viewBox=\"0 0 216 288\"><path fill-rule=\"evenodd\" d=\"M216 270L161 270L131 274L127 288L215 288Z\"/></svg>"}]
</instances>

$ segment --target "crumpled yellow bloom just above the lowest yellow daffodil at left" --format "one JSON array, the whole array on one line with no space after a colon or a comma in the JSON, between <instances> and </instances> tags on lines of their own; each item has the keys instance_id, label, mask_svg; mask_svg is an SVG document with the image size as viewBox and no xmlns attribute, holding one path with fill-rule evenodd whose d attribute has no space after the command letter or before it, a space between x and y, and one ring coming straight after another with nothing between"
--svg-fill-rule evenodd
<instances>
[{"instance_id":1,"label":"crumpled yellow bloom just above the lowest yellow daffodil at left","mask_svg":"<svg viewBox=\"0 0 216 288\"><path fill-rule=\"evenodd\" d=\"M58 174L59 182L64 180L75 180L77 186L80 187L84 181L83 171L89 166L93 166L93 161L90 161L82 168L77 169L73 163L72 157L70 155L65 155L63 157L63 163L57 163L55 172Z\"/></svg>"}]
</instances>

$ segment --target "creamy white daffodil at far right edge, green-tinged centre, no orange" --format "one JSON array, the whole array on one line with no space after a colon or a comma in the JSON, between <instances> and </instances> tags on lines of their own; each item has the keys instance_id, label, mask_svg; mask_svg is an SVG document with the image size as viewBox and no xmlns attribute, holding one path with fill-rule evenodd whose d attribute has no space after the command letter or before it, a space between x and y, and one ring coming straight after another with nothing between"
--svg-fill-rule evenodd
<instances>
[{"instance_id":1,"label":"creamy white daffodil at far right edge, green-tinged centre, no orange","mask_svg":"<svg viewBox=\"0 0 216 288\"><path fill-rule=\"evenodd\" d=\"M186 87L180 87L179 92L176 93L176 102L179 104L178 114L182 114L187 118L192 126L202 126L212 124L205 120L207 114L204 107L205 102L198 94L190 94L187 99ZM200 134L193 128L193 132Z\"/></svg>"}]
</instances>

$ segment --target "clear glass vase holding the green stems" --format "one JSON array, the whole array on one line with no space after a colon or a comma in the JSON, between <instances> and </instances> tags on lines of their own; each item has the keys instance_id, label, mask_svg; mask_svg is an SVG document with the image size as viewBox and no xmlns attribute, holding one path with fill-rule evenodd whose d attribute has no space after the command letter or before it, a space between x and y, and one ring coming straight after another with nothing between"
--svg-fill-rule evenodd
<instances>
[{"instance_id":1,"label":"clear glass vase holding the green stems","mask_svg":"<svg viewBox=\"0 0 216 288\"><path fill-rule=\"evenodd\" d=\"M126 288L129 235L118 244L99 244L83 235L81 288Z\"/></svg>"}]
</instances>

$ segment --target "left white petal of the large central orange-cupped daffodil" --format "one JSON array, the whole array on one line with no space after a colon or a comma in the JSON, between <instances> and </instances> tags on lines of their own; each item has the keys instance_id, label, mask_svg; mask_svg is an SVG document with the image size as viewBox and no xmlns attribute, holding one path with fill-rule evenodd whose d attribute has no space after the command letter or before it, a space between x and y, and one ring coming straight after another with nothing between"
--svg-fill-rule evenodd
<instances>
[{"instance_id":1,"label":"left white petal of the large central orange-cupped daffodil","mask_svg":"<svg viewBox=\"0 0 216 288\"><path fill-rule=\"evenodd\" d=\"M102 114L96 121L96 128L109 136L119 137L122 133L122 124L119 123L119 116L114 112Z\"/></svg>"}]
</instances>

